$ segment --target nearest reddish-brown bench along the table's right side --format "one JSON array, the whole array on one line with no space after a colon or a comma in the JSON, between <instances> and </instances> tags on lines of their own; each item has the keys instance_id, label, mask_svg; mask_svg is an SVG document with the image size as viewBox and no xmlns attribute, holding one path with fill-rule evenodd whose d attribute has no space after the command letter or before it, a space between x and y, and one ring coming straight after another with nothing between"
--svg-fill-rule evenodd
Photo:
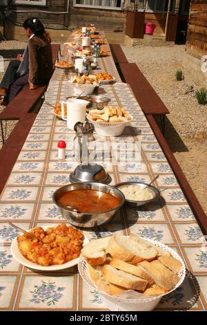
<instances>
[{"instance_id":1,"label":"nearest reddish-brown bench along the table's right side","mask_svg":"<svg viewBox=\"0 0 207 325\"><path fill-rule=\"evenodd\" d=\"M168 160L168 163L170 164L170 167L172 168L172 171L174 172L177 178L177 182L179 183L182 191L184 192L184 195L186 196L188 204L190 205L190 208L193 211L193 214L195 215L197 222L199 223L201 231L203 232L204 235L207 235L207 218L203 208L201 207L199 201L197 200L197 197L195 196L193 189L190 187L188 180L186 179L186 176L184 176L181 167L179 167L179 164L177 163L175 156L172 154L172 151L170 150L170 147L168 146L166 139L161 133L157 125L157 122L155 121L152 115L146 115L146 118L150 124L150 127L152 128L152 131L154 132L157 138L157 141L159 142L161 149L164 151L166 159Z\"/></svg>"}]
</instances>

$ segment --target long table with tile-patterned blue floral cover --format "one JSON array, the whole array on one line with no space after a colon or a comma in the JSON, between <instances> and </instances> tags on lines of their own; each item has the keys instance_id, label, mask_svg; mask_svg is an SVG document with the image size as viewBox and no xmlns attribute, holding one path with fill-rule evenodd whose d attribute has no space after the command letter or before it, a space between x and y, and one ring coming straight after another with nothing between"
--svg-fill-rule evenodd
<instances>
[{"instance_id":1,"label":"long table with tile-patterned blue floral cover","mask_svg":"<svg viewBox=\"0 0 207 325\"><path fill-rule=\"evenodd\" d=\"M102 62L103 61L103 62ZM103 68L112 69L112 57L101 59ZM112 71L108 71L112 73ZM112 74L113 74L112 73ZM117 76L118 77L118 76ZM63 223L57 207L52 203L55 189L69 183L70 172L77 162L73 156L75 133L66 122L51 113L46 104L56 104L72 95L72 86L62 71L52 77L46 101L28 134L21 153L12 169L0 197L0 309L2 310L105 310L99 294L87 286L77 267L58 273L36 273L19 265L10 254L10 243L18 232L7 221L28 229L36 225L51 226ZM101 93L111 98L111 104L124 106L133 116L130 127L118 138L96 135L101 146L106 145L112 157L105 163L112 177L111 185L125 180L150 182L157 174L155 185L161 199L154 204L133 209L124 206L108 224L84 231L88 239L108 236L115 231L166 243L184 259L188 270L184 283L166 295L158 310L206 310L206 250L205 239L192 210L186 201L166 156L150 124L137 103L128 84L117 82L101 86ZM57 142L66 140L67 159L57 158ZM131 143L126 163L126 142ZM116 157L113 145L119 143L121 155ZM141 145L140 158L134 157L132 144ZM1 166L2 168L3 166Z\"/></svg>"}]
</instances>

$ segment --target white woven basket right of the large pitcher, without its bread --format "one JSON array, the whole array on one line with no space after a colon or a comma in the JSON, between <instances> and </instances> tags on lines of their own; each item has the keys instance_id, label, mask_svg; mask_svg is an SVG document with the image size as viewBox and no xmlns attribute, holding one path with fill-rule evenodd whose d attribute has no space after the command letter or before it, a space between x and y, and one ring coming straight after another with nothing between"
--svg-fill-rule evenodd
<instances>
[{"instance_id":1,"label":"white woven basket right of the large pitcher, without its bread","mask_svg":"<svg viewBox=\"0 0 207 325\"><path fill-rule=\"evenodd\" d=\"M95 130L99 136L121 136L125 127L132 121L131 115L131 119L126 122L97 122L90 120L89 114L86 115L86 118L94 124Z\"/></svg>"}]
</instances>

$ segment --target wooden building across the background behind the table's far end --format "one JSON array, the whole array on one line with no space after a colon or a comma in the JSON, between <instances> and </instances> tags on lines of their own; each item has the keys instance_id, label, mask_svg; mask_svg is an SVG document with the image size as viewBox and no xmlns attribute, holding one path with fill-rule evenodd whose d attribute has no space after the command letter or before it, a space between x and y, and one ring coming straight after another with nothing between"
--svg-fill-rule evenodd
<instances>
[{"instance_id":1,"label":"wooden building across the background behind the table's far end","mask_svg":"<svg viewBox=\"0 0 207 325\"><path fill-rule=\"evenodd\" d=\"M190 0L1 0L6 3L6 37L17 38L22 22L37 15L48 28L72 30L95 24L124 42L144 39L144 26L155 24L154 35L175 41L185 37ZM114 34L114 35L113 35Z\"/></svg>"}]
</instances>

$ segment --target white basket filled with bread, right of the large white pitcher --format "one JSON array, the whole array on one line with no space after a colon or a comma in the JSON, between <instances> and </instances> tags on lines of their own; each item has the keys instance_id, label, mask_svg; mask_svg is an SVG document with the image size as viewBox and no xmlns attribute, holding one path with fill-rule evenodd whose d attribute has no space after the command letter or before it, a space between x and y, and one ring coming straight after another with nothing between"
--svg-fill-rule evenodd
<instances>
[{"instance_id":1,"label":"white basket filled with bread, right of the large white pitcher","mask_svg":"<svg viewBox=\"0 0 207 325\"><path fill-rule=\"evenodd\" d=\"M125 127L132 120L124 107L105 106L103 109L92 109L86 115L95 126L99 136L121 136Z\"/></svg>"}]
</instances>

